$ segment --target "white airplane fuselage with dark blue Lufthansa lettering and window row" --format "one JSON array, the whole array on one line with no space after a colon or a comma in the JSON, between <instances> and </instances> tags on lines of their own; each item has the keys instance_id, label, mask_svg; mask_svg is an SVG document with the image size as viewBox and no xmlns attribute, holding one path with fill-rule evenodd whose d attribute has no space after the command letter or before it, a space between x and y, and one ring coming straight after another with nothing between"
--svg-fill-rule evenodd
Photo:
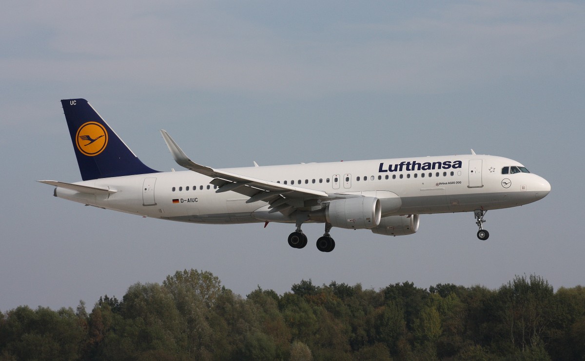
<instances>
[{"instance_id":1,"label":"white airplane fuselage with dark blue Lufthansa lettering and window row","mask_svg":"<svg viewBox=\"0 0 585 361\"><path fill-rule=\"evenodd\" d=\"M503 174L512 159L490 155L452 155L222 169L329 194L374 196L381 200L382 217L491 210L535 202L550 191L549 183L527 172ZM216 193L212 178L192 171L159 172L101 178L75 184L115 190L90 195L56 188L55 195L75 202L195 223L295 223L294 217L269 213L269 204L246 203L235 192ZM315 210L318 203L298 204Z\"/></svg>"}]
</instances>

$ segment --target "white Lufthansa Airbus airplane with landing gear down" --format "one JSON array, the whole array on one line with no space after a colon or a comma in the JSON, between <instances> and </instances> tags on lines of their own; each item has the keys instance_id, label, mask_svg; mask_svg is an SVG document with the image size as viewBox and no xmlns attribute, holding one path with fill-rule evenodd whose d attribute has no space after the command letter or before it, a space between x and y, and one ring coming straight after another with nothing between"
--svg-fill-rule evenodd
<instances>
[{"instance_id":1,"label":"white Lufthansa Airbus airplane with landing gear down","mask_svg":"<svg viewBox=\"0 0 585 361\"><path fill-rule=\"evenodd\" d=\"M207 224L295 224L292 248L304 248L304 223L322 223L316 241L331 252L332 227L397 236L418 231L419 215L473 212L477 238L488 210L542 199L550 184L512 159L479 155L411 157L218 169L193 162L164 130L187 171L144 165L85 99L61 100L81 182L38 182L53 195L143 217Z\"/></svg>"}]
</instances>

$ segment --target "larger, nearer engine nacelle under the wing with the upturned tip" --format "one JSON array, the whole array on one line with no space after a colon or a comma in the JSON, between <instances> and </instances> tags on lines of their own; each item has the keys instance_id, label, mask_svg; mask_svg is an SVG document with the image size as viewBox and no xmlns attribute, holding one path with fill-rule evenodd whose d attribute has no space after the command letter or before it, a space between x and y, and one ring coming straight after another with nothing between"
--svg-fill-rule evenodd
<instances>
[{"instance_id":1,"label":"larger, nearer engine nacelle under the wing with the upturned tip","mask_svg":"<svg viewBox=\"0 0 585 361\"><path fill-rule=\"evenodd\" d=\"M380 224L382 207L376 197L336 199L325 209L326 220L333 227L360 230Z\"/></svg>"}]
</instances>

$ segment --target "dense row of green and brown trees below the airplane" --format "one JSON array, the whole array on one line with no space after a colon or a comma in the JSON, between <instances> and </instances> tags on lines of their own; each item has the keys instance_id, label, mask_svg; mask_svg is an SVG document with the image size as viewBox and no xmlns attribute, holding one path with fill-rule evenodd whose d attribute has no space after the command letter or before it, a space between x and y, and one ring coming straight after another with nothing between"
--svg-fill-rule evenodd
<instances>
[{"instance_id":1,"label":"dense row of green and brown trees below the airplane","mask_svg":"<svg viewBox=\"0 0 585 361\"><path fill-rule=\"evenodd\" d=\"M309 280L244 298L211 272L136 283L91 313L0 313L0 360L584 360L585 289L516 276L497 290Z\"/></svg>"}]
</instances>

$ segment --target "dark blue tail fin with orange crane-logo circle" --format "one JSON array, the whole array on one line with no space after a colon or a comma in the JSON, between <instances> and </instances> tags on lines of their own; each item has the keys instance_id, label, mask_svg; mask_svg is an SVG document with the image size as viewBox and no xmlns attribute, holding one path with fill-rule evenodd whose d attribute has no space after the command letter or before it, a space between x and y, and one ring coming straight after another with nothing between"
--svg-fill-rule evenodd
<instances>
[{"instance_id":1,"label":"dark blue tail fin with orange crane-logo circle","mask_svg":"<svg viewBox=\"0 0 585 361\"><path fill-rule=\"evenodd\" d=\"M83 180L157 172L136 157L87 100L61 104Z\"/></svg>"}]
</instances>

